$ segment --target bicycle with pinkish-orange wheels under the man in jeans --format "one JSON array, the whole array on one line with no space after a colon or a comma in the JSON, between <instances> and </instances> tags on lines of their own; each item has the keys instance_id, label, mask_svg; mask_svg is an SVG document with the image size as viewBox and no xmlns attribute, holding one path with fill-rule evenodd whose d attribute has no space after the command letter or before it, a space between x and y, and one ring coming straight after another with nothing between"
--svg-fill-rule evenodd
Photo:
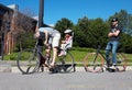
<instances>
[{"instance_id":1,"label":"bicycle with pinkish-orange wheels under the man in jeans","mask_svg":"<svg viewBox=\"0 0 132 90\"><path fill-rule=\"evenodd\" d=\"M110 64L112 65L112 58L110 55ZM127 70L127 57L123 53L118 53L117 54L117 63L118 63L118 68L117 69L111 69L108 67L107 58L103 56L103 54L100 50L100 45L97 44L97 49L94 53L89 53L85 56L84 58L84 68L86 71L89 72L103 72L105 68L106 70L110 72L122 72Z\"/></svg>"}]
</instances>

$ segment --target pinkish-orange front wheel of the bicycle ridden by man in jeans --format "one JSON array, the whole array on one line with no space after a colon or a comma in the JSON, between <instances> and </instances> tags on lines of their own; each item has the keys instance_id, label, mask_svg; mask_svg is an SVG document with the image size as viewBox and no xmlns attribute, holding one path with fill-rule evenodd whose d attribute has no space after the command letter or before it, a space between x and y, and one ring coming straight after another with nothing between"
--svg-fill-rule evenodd
<instances>
[{"instance_id":1,"label":"pinkish-orange front wheel of the bicycle ridden by man in jeans","mask_svg":"<svg viewBox=\"0 0 132 90\"><path fill-rule=\"evenodd\" d=\"M89 53L84 58L84 68L88 72L101 72L103 71L103 57L97 53Z\"/></svg>"}]
</instances>

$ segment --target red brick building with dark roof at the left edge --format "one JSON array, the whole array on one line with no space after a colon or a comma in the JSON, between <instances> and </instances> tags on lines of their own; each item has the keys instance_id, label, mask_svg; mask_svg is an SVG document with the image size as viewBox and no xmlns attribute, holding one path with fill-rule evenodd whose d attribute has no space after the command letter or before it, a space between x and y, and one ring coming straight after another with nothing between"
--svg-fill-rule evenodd
<instances>
[{"instance_id":1,"label":"red brick building with dark roof at the left edge","mask_svg":"<svg viewBox=\"0 0 132 90\"><path fill-rule=\"evenodd\" d=\"M20 13L18 5L0 4L0 56L10 54L14 49L18 34L21 31L34 31L36 23L35 19Z\"/></svg>"}]
</instances>

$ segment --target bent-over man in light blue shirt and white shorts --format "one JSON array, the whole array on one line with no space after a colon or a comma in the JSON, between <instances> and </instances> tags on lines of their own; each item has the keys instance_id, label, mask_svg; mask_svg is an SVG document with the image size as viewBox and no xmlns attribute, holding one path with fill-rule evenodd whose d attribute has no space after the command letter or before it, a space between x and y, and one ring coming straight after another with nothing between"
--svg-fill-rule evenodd
<instances>
[{"instance_id":1,"label":"bent-over man in light blue shirt and white shorts","mask_svg":"<svg viewBox=\"0 0 132 90\"><path fill-rule=\"evenodd\" d=\"M42 32L45 34L44 45L46 46L46 56L50 58L51 49L53 48L53 59L51 63L51 68L55 66L55 59L57 57L57 48L59 46L61 33L55 30L53 26L51 27L36 27L35 37L38 37L38 33Z\"/></svg>"}]
</instances>

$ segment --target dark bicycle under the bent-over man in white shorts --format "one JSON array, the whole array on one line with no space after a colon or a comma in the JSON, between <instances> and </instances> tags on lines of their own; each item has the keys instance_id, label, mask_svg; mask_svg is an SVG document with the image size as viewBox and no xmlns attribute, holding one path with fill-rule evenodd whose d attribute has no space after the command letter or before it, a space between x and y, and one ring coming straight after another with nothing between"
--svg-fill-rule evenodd
<instances>
[{"instance_id":1,"label":"dark bicycle under the bent-over man in white shorts","mask_svg":"<svg viewBox=\"0 0 132 90\"><path fill-rule=\"evenodd\" d=\"M57 57L55 68L51 69L51 61L46 63L46 55L42 54L42 52L37 48L37 43L38 41L36 41L33 49L28 48L19 53L16 65L22 74L34 74L37 72L40 68L42 71L44 71L44 67L47 67L50 70L52 70L52 72L69 72L72 69L73 71L76 70L74 57L69 53L69 48L66 49L66 55ZM50 60L52 59L50 58Z\"/></svg>"}]
</instances>

